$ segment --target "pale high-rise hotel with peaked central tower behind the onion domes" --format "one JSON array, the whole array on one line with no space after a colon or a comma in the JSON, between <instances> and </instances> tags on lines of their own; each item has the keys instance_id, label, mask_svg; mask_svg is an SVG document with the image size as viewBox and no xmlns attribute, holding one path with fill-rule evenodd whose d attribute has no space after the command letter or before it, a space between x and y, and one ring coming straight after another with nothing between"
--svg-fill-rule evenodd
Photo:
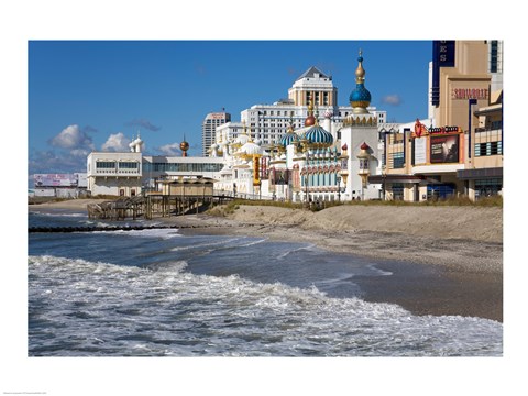
<instances>
[{"instance_id":1,"label":"pale high-rise hotel with peaked central tower behind the onion domes","mask_svg":"<svg viewBox=\"0 0 528 396\"><path fill-rule=\"evenodd\" d=\"M351 106L338 105L338 88L333 86L332 77L312 66L300 75L292 88L288 98L279 99L273 105L254 105L241 112L241 122L228 122L217 128L216 143L227 142L237 138L246 129L253 139L257 139L264 148L280 140L293 122L294 129L304 127L308 117L308 106L314 102L316 117L320 120L330 116L338 130L342 122L352 114ZM386 122L386 111L369 108L377 117L378 123ZM339 136L339 131L329 131Z\"/></svg>"}]
</instances>

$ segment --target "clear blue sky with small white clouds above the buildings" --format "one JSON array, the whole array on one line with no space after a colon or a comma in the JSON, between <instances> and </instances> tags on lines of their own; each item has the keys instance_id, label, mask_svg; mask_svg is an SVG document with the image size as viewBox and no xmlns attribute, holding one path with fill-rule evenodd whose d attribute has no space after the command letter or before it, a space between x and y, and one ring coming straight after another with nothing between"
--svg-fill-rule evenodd
<instances>
[{"instance_id":1,"label":"clear blue sky with small white clouds above the buildings","mask_svg":"<svg viewBox=\"0 0 528 396\"><path fill-rule=\"evenodd\" d=\"M339 105L363 51L372 106L388 121L427 117L430 41L30 41L29 174L86 172L92 150L138 131L148 154L201 155L209 112L286 98L310 66L332 75Z\"/></svg>"}]
</instances>

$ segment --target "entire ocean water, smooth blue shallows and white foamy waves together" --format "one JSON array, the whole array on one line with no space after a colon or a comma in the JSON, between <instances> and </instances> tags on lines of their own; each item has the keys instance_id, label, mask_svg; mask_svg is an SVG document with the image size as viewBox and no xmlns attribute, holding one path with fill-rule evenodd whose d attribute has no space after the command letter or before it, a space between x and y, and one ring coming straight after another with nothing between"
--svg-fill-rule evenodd
<instances>
[{"instance_id":1,"label":"entire ocean water, smooth blue shallows and white foamy waves together","mask_svg":"<svg viewBox=\"0 0 528 396\"><path fill-rule=\"evenodd\" d=\"M102 224L114 223L29 213L30 227ZM28 354L502 355L499 322L364 301L354 277L392 275L377 264L306 243L176 229L30 233Z\"/></svg>"}]
</instances>

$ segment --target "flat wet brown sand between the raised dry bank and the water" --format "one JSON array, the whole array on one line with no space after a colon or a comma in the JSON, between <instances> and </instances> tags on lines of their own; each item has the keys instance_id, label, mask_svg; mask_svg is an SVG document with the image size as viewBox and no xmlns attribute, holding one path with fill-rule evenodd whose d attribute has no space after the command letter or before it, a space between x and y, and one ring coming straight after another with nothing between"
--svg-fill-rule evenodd
<instances>
[{"instance_id":1,"label":"flat wet brown sand between the raised dry bank and the water","mask_svg":"<svg viewBox=\"0 0 528 396\"><path fill-rule=\"evenodd\" d=\"M356 277L363 299L393 302L415 315L454 315L503 321L503 244L365 230L304 230L208 216L164 218L182 233L265 237L312 243L372 257L392 276Z\"/></svg>"}]
</instances>

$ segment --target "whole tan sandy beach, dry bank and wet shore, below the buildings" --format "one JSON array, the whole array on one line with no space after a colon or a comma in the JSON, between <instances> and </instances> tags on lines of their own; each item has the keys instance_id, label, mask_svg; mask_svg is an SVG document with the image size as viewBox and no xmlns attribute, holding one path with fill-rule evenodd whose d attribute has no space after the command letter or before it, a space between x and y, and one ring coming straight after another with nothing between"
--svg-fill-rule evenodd
<instances>
[{"instance_id":1,"label":"whole tan sandy beach, dry bank and wet shore, below the buildings","mask_svg":"<svg viewBox=\"0 0 528 396\"><path fill-rule=\"evenodd\" d=\"M82 210L92 199L29 206ZM372 257L392 276L358 278L369 301L415 315L503 320L503 210L343 205L318 212L240 206L233 213L161 218L182 233L243 234ZM195 228L190 228L195 227Z\"/></svg>"}]
</instances>

